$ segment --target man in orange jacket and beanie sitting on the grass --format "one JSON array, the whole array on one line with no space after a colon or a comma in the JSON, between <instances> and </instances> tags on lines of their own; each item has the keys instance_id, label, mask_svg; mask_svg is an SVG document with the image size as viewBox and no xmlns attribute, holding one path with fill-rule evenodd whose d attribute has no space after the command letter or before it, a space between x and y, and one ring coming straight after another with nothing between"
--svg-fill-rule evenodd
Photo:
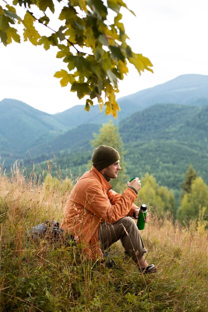
<instances>
[{"instance_id":1,"label":"man in orange jacket and beanie sitting on the grass","mask_svg":"<svg viewBox=\"0 0 208 312\"><path fill-rule=\"evenodd\" d=\"M138 218L139 208L134 201L141 181L137 177L127 182L123 194L114 192L109 183L121 170L119 159L119 153L109 146L101 145L93 151L92 168L73 187L61 228L83 243L85 254L94 260L102 258L104 251L120 239L125 253L140 270L152 273L155 266L145 260L147 250L131 218Z\"/></svg>"}]
</instances>

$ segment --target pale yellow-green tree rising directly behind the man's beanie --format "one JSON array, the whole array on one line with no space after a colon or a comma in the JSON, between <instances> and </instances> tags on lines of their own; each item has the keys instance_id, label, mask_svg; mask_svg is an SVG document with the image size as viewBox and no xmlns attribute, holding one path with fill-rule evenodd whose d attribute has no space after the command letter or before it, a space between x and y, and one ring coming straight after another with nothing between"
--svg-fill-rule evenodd
<instances>
[{"instance_id":1,"label":"pale yellow-green tree rising directly behind the man's beanie","mask_svg":"<svg viewBox=\"0 0 208 312\"><path fill-rule=\"evenodd\" d=\"M119 134L119 129L114 126L112 120L107 124L104 124L98 134L94 134L94 139L90 141L92 147L97 148L99 145L108 145L119 152L120 155L120 165L121 170L119 172L118 178L111 180L112 188L117 192L123 192L124 188L127 186L126 182L128 180L126 175L126 163L124 161L124 148L123 142ZM91 165L90 161L90 165Z\"/></svg>"}]
</instances>

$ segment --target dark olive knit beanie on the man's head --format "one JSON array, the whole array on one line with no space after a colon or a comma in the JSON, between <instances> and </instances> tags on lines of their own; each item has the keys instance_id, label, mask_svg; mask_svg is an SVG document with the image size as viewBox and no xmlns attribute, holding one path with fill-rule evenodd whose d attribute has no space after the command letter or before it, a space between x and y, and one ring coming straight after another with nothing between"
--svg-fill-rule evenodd
<instances>
[{"instance_id":1,"label":"dark olive knit beanie on the man's head","mask_svg":"<svg viewBox=\"0 0 208 312\"><path fill-rule=\"evenodd\" d=\"M92 164L97 170L102 170L119 159L118 151L106 145L100 145L92 154Z\"/></svg>"}]
</instances>

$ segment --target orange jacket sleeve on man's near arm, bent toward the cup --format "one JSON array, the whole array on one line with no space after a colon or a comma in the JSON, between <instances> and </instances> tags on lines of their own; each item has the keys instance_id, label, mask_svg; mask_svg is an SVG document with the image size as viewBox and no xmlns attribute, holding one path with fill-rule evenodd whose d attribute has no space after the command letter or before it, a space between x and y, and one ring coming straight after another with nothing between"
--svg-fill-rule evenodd
<instances>
[{"instance_id":1,"label":"orange jacket sleeve on man's near arm, bent toward the cup","mask_svg":"<svg viewBox=\"0 0 208 312\"><path fill-rule=\"evenodd\" d=\"M91 184L85 190L84 207L108 223L115 223L131 211L137 194L126 188L123 194L108 197L102 186Z\"/></svg>"}]
</instances>

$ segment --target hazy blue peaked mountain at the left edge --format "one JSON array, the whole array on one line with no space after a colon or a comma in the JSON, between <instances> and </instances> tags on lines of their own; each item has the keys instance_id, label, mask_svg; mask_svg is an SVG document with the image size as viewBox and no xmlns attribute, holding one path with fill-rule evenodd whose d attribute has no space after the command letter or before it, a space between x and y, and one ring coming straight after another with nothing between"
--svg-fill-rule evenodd
<instances>
[{"instance_id":1,"label":"hazy blue peaked mountain at the left edge","mask_svg":"<svg viewBox=\"0 0 208 312\"><path fill-rule=\"evenodd\" d=\"M65 127L50 114L17 100L0 102L0 156L6 163L25 157L28 149L63 131Z\"/></svg>"}]
</instances>

